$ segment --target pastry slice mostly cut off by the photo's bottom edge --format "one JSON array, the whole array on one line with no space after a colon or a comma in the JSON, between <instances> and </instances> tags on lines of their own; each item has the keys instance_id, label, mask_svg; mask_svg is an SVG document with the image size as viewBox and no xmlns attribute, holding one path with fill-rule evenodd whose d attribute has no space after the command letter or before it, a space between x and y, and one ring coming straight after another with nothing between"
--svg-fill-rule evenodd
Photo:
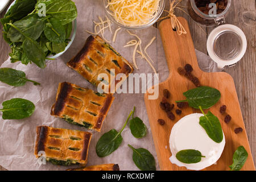
<instances>
[{"instance_id":1,"label":"pastry slice mostly cut off by the photo's bottom edge","mask_svg":"<svg viewBox=\"0 0 256 182\"><path fill-rule=\"evenodd\" d=\"M89 167L67 169L66 171L119 171L118 164L101 164Z\"/></svg>"}]
</instances>

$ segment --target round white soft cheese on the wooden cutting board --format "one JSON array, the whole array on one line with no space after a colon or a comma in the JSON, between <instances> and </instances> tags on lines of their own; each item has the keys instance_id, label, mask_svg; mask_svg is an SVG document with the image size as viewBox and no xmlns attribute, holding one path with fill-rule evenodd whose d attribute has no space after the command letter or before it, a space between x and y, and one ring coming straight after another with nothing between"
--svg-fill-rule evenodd
<instances>
[{"instance_id":1,"label":"round white soft cheese on the wooden cutting board","mask_svg":"<svg viewBox=\"0 0 256 182\"><path fill-rule=\"evenodd\" d=\"M203 114L194 113L181 118L172 127L170 135L170 149L172 156L170 161L177 166L184 166L191 170L201 170L216 163L225 146L225 136L221 143L216 143L209 138L204 128L199 124L199 118ZM222 131L223 132L223 131ZM177 152L181 150L198 150L205 158L199 163L185 164L176 159Z\"/></svg>"}]
</instances>

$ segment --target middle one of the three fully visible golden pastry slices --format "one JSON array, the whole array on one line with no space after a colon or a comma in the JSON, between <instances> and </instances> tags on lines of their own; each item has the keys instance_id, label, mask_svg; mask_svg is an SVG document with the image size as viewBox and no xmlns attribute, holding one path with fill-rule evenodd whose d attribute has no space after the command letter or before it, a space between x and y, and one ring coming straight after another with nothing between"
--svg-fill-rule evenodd
<instances>
[{"instance_id":1,"label":"middle one of the three fully visible golden pastry slices","mask_svg":"<svg viewBox=\"0 0 256 182\"><path fill-rule=\"evenodd\" d=\"M113 100L112 94L100 94L62 82L59 84L51 115L63 118L73 125L100 131Z\"/></svg>"}]
</instances>

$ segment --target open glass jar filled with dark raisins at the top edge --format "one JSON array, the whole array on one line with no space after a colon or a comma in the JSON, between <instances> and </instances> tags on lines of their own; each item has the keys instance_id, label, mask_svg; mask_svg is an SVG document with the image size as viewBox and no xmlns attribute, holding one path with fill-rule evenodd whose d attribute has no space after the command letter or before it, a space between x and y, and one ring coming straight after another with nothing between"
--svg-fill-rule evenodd
<instances>
[{"instance_id":1,"label":"open glass jar filled with dark raisins at the top edge","mask_svg":"<svg viewBox=\"0 0 256 182\"><path fill-rule=\"evenodd\" d=\"M218 26L225 23L231 0L190 0L188 14L203 26Z\"/></svg>"}]
</instances>

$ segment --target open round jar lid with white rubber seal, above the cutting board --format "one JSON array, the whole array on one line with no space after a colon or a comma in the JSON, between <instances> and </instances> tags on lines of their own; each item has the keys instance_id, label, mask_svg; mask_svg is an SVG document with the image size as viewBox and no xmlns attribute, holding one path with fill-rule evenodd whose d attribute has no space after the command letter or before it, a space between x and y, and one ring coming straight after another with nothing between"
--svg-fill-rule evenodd
<instances>
[{"instance_id":1,"label":"open round jar lid with white rubber seal, above the cutting board","mask_svg":"<svg viewBox=\"0 0 256 182\"><path fill-rule=\"evenodd\" d=\"M233 24L223 24L214 28L207 40L209 56L220 69L226 65L236 65L245 55L246 47L245 34Z\"/></svg>"}]
</instances>

